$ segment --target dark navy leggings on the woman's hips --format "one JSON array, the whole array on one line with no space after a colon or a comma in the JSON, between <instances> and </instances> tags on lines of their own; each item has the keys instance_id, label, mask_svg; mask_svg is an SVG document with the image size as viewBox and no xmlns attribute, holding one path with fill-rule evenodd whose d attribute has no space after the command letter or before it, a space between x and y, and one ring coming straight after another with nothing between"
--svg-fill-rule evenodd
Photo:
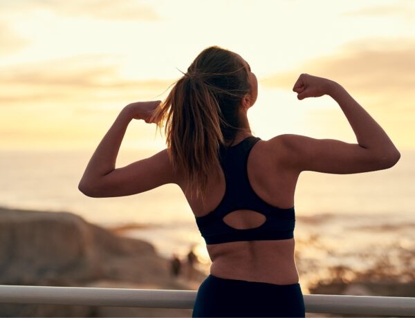
<instances>
[{"instance_id":1,"label":"dark navy leggings on the woman's hips","mask_svg":"<svg viewBox=\"0 0 415 318\"><path fill-rule=\"evenodd\" d=\"M305 317L299 283L277 285L210 274L201 283L192 317Z\"/></svg>"}]
</instances>

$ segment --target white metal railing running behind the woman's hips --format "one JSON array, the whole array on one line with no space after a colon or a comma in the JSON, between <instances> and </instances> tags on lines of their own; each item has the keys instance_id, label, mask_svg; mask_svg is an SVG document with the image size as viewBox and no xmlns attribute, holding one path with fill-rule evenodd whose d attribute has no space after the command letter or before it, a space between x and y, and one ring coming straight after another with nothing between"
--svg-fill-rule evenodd
<instances>
[{"instance_id":1,"label":"white metal railing running behind the woman's hips","mask_svg":"<svg viewBox=\"0 0 415 318\"><path fill-rule=\"evenodd\" d=\"M0 303L192 309L196 290L0 286ZM306 312L415 317L415 298L304 294Z\"/></svg>"}]
</instances>

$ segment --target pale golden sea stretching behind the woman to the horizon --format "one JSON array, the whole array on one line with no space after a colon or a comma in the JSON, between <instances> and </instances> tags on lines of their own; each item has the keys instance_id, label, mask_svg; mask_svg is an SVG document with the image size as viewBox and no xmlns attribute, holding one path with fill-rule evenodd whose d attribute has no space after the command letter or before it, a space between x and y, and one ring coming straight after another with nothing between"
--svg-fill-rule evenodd
<instances>
[{"instance_id":1,"label":"pale golden sea stretching behind the woman to the horizon","mask_svg":"<svg viewBox=\"0 0 415 318\"><path fill-rule=\"evenodd\" d=\"M120 149L116 167L157 151ZM169 258L192 245L209 272L210 259L187 200L176 185L118 198L89 198L77 185L91 151L0 151L0 206L78 214L103 227L131 225ZM295 193L296 264L307 290L317 281L353 279L376 269L407 281L415 272L415 151L401 151L391 169L363 174L303 171ZM134 225L145 225L145 227Z\"/></svg>"}]
</instances>

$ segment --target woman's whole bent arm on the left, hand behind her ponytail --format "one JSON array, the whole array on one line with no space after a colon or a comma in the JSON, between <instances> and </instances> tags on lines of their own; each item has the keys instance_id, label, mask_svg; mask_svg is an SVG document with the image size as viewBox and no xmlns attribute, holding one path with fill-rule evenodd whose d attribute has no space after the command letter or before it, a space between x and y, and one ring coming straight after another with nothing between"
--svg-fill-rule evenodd
<instances>
[{"instance_id":1,"label":"woman's whole bent arm on the left, hand behind her ponytail","mask_svg":"<svg viewBox=\"0 0 415 318\"><path fill-rule=\"evenodd\" d=\"M129 122L133 119L149 122L149 115L159 103L137 102L122 109L86 166L78 185L83 194L93 198L129 196L166 183L176 183L167 149L116 169L118 151Z\"/></svg>"}]
</instances>

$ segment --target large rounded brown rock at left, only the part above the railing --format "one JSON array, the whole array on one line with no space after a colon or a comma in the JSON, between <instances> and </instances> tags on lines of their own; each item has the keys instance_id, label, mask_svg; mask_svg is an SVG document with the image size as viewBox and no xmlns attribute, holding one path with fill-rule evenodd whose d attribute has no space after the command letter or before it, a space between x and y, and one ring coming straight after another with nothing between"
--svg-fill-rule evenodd
<instances>
[{"instance_id":1,"label":"large rounded brown rock at left, only the part above the railing","mask_svg":"<svg viewBox=\"0 0 415 318\"><path fill-rule=\"evenodd\" d=\"M133 261L128 263L128 261ZM0 211L0 281L59 285L94 279L163 279L154 247L118 237L67 212Z\"/></svg>"}]
</instances>

